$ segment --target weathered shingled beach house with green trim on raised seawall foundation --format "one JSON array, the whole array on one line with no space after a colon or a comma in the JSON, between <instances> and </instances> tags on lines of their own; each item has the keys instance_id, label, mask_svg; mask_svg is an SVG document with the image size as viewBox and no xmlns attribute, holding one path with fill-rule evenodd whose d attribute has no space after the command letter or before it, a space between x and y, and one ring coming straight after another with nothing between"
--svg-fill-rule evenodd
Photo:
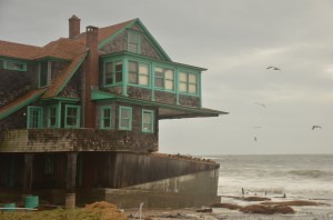
<instances>
[{"instance_id":1,"label":"weathered shingled beach house with green trim on raised seawall foundation","mask_svg":"<svg viewBox=\"0 0 333 220\"><path fill-rule=\"evenodd\" d=\"M139 19L80 30L72 16L44 47L0 41L2 198L215 200L218 163L158 152L160 120L226 113L202 107L205 69L172 61Z\"/></svg>"}]
</instances>

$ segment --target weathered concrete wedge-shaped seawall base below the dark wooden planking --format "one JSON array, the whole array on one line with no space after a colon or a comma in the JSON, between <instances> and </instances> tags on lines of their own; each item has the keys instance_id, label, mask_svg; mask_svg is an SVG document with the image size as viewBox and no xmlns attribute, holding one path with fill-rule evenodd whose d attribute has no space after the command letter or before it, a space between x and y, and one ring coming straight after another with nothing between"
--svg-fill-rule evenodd
<instances>
[{"instance_id":1,"label":"weathered concrete wedge-shaped seawall base below the dark wooden planking","mask_svg":"<svg viewBox=\"0 0 333 220\"><path fill-rule=\"evenodd\" d=\"M201 171L122 189L107 189L105 201L122 208L189 208L220 202L219 169Z\"/></svg>"}]
</instances>

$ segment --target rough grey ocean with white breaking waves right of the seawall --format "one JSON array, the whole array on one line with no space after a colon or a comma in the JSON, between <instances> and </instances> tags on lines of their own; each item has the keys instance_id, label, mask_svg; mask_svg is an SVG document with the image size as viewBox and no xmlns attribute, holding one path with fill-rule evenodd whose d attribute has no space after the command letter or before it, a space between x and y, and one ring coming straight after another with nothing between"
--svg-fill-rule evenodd
<instances>
[{"instance_id":1,"label":"rough grey ocean with white breaking waves right of the seawall","mask_svg":"<svg viewBox=\"0 0 333 220\"><path fill-rule=\"evenodd\" d=\"M214 156L219 196L333 201L333 154Z\"/></svg>"}]
</instances>

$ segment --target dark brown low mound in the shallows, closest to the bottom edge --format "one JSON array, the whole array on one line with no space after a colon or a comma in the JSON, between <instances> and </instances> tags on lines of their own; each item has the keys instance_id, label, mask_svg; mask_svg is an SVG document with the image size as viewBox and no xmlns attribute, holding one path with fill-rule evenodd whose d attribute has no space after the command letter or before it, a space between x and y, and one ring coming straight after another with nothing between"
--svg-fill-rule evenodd
<instances>
[{"instance_id":1,"label":"dark brown low mound in the shallows, closest to the bottom edge","mask_svg":"<svg viewBox=\"0 0 333 220\"><path fill-rule=\"evenodd\" d=\"M287 206L264 206L264 204L251 204L240 209L243 213L262 213L262 214L274 214L274 213L295 213L295 211Z\"/></svg>"}]
</instances>

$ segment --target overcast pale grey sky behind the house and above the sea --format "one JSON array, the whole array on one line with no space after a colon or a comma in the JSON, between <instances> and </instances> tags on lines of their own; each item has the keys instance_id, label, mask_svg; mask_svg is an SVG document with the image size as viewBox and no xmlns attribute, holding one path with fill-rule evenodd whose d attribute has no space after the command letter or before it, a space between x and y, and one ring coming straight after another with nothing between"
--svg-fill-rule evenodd
<instances>
[{"instance_id":1,"label":"overcast pale grey sky behind the house and above the sea","mask_svg":"<svg viewBox=\"0 0 333 220\"><path fill-rule=\"evenodd\" d=\"M161 120L160 152L322 154L333 153L332 10L331 0L1 0L0 40L42 47L68 37L72 14L81 31L139 18L174 62L208 69L203 107L229 112Z\"/></svg>"}]
</instances>

